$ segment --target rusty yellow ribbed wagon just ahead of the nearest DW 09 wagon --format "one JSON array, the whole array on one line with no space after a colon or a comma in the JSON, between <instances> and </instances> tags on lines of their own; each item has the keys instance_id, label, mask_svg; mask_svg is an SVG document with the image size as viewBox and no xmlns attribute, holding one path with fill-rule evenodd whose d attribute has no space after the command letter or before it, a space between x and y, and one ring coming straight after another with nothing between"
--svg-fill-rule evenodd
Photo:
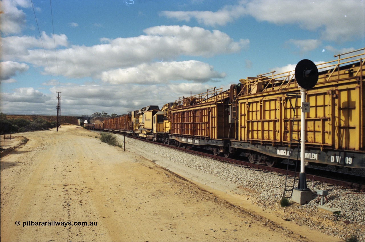
<instances>
[{"instance_id":1,"label":"rusty yellow ribbed wagon just ahead of the nearest DW 09 wagon","mask_svg":"<svg viewBox=\"0 0 365 242\"><path fill-rule=\"evenodd\" d=\"M207 146L219 154L230 132L228 98L227 91L212 88L177 100L170 108L170 139L180 146Z\"/></svg>"}]
</instances>

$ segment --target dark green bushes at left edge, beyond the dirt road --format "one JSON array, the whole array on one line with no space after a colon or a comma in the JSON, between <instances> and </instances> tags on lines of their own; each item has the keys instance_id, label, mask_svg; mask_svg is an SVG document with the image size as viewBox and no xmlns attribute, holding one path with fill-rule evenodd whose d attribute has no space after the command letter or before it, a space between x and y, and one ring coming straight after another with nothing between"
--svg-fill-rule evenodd
<instances>
[{"instance_id":1,"label":"dark green bushes at left edge, beyond the dirt road","mask_svg":"<svg viewBox=\"0 0 365 242\"><path fill-rule=\"evenodd\" d=\"M8 119L5 114L0 114L0 132L9 134L35 130L48 130L57 126L56 121L47 121L38 116L32 116L32 120L18 118Z\"/></svg>"}]
</instances>

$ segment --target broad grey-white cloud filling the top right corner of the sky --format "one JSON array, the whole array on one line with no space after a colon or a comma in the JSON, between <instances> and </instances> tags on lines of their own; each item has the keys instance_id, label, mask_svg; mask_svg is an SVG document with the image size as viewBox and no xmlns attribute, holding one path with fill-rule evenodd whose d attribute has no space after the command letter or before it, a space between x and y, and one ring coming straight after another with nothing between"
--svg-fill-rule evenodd
<instances>
[{"instance_id":1,"label":"broad grey-white cloud filling the top right corner of the sky","mask_svg":"<svg viewBox=\"0 0 365 242\"><path fill-rule=\"evenodd\" d=\"M251 1L246 5L251 16L274 24L299 24L303 29L319 31L322 39L346 41L364 36L365 4L354 0ZM362 17L361 17L362 16Z\"/></svg>"}]
</instances>

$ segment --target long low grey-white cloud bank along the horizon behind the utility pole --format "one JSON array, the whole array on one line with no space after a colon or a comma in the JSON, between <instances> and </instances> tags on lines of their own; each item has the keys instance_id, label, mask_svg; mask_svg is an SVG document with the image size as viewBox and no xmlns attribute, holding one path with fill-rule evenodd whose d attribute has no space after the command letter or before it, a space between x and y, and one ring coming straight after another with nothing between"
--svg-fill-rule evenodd
<instances>
[{"instance_id":1,"label":"long low grey-white cloud bank along the horizon behind the utility pole","mask_svg":"<svg viewBox=\"0 0 365 242\"><path fill-rule=\"evenodd\" d=\"M61 91L62 114L124 114L149 105L161 108L178 97L190 96L191 91L195 95L211 87L206 83L74 85L51 87L52 94L47 95L34 88L18 88L14 93L1 93L0 102L4 113L55 114L56 91Z\"/></svg>"}]
</instances>

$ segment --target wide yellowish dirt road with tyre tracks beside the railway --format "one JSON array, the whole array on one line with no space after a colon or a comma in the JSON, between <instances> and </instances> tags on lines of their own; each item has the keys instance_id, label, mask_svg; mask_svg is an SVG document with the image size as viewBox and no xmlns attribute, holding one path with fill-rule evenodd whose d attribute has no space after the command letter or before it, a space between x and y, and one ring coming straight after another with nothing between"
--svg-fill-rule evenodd
<instances>
[{"instance_id":1,"label":"wide yellowish dirt road with tyre tracks beside the railway","mask_svg":"<svg viewBox=\"0 0 365 242\"><path fill-rule=\"evenodd\" d=\"M1 241L310 241L83 128L22 135L1 158Z\"/></svg>"}]
</instances>

